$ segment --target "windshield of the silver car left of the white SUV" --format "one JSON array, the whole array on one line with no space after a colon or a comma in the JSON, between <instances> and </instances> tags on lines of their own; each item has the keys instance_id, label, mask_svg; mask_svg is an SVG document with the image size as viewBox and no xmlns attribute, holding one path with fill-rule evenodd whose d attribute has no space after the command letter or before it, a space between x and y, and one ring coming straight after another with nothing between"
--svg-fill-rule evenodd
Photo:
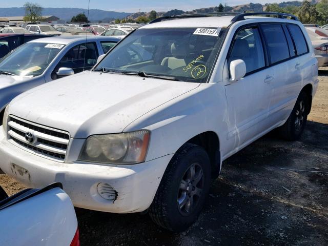
<instances>
[{"instance_id":1,"label":"windshield of the silver car left of the white SUV","mask_svg":"<svg viewBox=\"0 0 328 246\"><path fill-rule=\"evenodd\" d=\"M64 45L26 43L0 61L0 71L20 76L42 74Z\"/></svg>"}]
</instances>

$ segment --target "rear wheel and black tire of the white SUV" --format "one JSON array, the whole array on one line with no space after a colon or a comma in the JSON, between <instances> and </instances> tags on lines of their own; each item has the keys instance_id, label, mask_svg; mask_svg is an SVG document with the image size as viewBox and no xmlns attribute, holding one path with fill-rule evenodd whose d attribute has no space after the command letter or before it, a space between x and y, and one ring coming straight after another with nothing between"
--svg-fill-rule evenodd
<instances>
[{"instance_id":1,"label":"rear wheel and black tire of the white SUV","mask_svg":"<svg viewBox=\"0 0 328 246\"><path fill-rule=\"evenodd\" d=\"M280 136L289 141L298 140L305 128L309 112L310 98L302 91L296 100L296 104L288 120L278 128ZM297 122L300 122L300 125Z\"/></svg>"}]
</instances>

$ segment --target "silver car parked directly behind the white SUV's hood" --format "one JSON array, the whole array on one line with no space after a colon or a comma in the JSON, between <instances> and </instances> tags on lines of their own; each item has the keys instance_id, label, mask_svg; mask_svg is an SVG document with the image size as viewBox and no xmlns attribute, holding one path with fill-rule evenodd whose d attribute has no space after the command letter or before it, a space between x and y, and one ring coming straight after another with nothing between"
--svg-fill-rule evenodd
<instances>
[{"instance_id":1,"label":"silver car parked directly behind the white SUV's hood","mask_svg":"<svg viewBox=\"0 0 328 246\"><path fill-rule=\"evenodd\" d=\"M99 55L119 41L106 36L60 36L32 40L0 60L0 122L7 104L20 93L91 69ZM1 123L0 123L1 125Z\"/></svg>"}]
</instances>

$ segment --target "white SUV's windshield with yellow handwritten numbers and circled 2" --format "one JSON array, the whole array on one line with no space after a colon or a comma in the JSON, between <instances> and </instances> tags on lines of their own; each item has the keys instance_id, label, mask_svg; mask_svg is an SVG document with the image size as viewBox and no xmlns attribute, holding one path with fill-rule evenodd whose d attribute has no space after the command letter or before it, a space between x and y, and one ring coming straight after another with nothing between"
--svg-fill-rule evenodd
<instances>
[{"instance_id":1,"label":"white SUV's windshield with yellow handwritten numbers and circled 2","mask_svg":"<svg viewBox=\"0 0 328 246\"><path fill-rule=\"evenodd\" d=\"M224 32L211 28L137 29L115 46L96 68L204 83Z\"/></svg>"}]
</instances>

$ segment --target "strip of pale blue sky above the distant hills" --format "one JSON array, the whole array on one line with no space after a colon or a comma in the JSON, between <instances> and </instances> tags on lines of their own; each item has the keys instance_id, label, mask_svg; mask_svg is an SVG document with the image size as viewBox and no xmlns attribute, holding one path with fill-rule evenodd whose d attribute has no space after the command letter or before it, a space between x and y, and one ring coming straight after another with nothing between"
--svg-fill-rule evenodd
<instances>
[{"instance_id":1,"label":"strip of pale blue sky above the distant hills","mask_svg":"<svg viewBox=\"0 0 328 246\"><path fill-rule=\"evenodd\" d=\"M3 1L2 8L22 7L27 0ZM83 8L88 9L88 0L29 0L32 3L38 3L45 8ZM254 0L252 3L279 3L282 1ZM117 12L149 12L168 11L171 9L193 10L218 6L220 3L229 6L248 4L244 0L232 1L214 1L214 0L90 0L90 9L101 9Z\"/></svg>"}]
</instances>

